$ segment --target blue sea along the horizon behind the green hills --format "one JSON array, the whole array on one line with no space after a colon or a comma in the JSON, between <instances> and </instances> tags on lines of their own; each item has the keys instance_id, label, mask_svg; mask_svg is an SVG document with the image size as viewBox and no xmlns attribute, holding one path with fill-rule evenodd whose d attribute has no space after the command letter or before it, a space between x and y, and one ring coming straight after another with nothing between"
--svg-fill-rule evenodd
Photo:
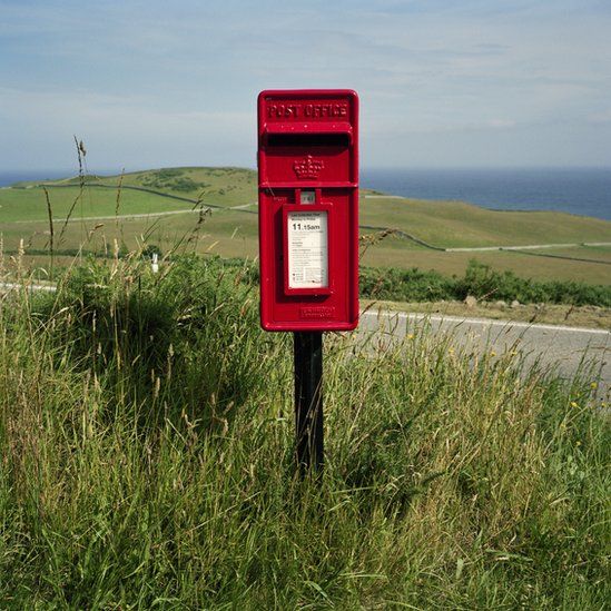
<instances>
[{"instance_id":1,"label":"blue sea along the horizon behind the green hills","mask_svg":"<svg viewBox=\"0 0 611 611\"><path fill-rule=\"evenodd\" d=\"M73 169L0 171L0 187L73 174ZM560 210L611 220L611 168L363 168L361 186L417 199L469 201L495 210Z\"/></svg>"}]
</instances>

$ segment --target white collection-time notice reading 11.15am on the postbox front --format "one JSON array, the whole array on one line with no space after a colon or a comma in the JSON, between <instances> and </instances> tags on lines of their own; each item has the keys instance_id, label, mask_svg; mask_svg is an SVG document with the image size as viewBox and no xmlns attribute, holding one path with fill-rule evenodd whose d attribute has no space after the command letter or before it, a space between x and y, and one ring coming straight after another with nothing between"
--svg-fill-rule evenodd
<instances>
[{"instance_id":1,"label":"white collection-time notice reading 11.15am on the postbox front","mask_svg":"<svg viewBox=\"0 0 611 611\"><path fill-rule=\"evenodd\" d=\"M288 287L328 286L327 213L288 213Z\"/></svg>"}]
</instances>

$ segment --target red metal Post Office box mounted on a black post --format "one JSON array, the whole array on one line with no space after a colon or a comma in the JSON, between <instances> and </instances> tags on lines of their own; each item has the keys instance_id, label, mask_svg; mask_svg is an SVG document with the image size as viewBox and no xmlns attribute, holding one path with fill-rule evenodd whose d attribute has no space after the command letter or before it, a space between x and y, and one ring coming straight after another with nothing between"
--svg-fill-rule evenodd
<instances>
[{"instance_id":1,"label":"red metal Post Office box mounted on a black post","mask_svg":"<svg viewBox=\"0 0 611 611\"><path fill-rule=\"evenodd\" d=\"M267 331L358 323L358 97L258 97L260 322Z\"/></svg>"}]
</instances>

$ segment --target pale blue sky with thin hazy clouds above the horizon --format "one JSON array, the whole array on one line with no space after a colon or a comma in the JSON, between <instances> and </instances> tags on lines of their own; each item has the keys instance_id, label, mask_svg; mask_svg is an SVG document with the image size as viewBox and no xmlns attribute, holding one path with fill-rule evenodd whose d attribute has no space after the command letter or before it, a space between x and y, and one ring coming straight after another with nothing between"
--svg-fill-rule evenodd
<instances>
[{"instance_id":1,"label":"pale blue sky with thin hazy clouds above the horizon","mask_svg":"<svg viewBox=\"0 0 611 611\"><path fill-rule=\"evenodd\" d=\"M611 0L0 0L3 171L255 167L257 93L311 87L363 167L611 167Z\"/></svg>"}]
</instances>

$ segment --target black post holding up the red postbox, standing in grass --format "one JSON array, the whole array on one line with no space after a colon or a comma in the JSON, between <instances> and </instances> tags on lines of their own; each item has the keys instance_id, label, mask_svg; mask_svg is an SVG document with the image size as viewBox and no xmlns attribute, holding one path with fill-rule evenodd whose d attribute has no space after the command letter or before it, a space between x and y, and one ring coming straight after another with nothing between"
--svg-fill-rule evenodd
<instances>
[{"instance_id":1,"label":"black post holding up the red postbox, standing in grass","mask_svg":"<svg viewBox=\"0 0 611 611\"><path fill-rule=\"evenodd\" d=\"M323 467L323 334L294 333L296 459L299 473Z\"/></svg>"}]
</instances>

